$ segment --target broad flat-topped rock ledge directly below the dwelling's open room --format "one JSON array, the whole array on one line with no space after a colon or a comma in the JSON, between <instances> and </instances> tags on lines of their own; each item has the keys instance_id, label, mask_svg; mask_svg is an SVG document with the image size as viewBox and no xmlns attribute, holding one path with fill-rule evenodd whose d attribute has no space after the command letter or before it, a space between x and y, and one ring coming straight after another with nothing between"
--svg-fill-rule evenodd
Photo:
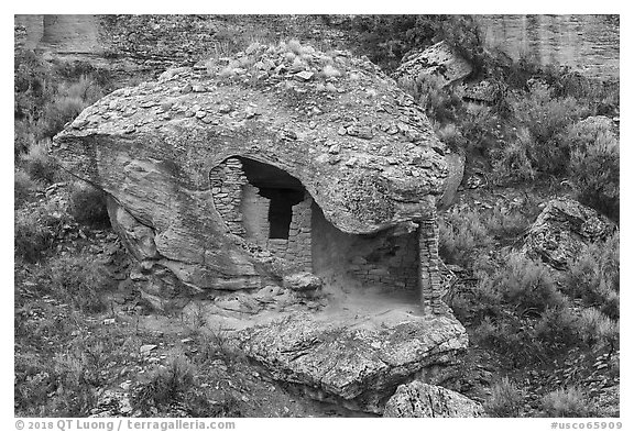
<instances>
[{"instance_id":1,"label":"broad flat-topped rock ledge directly below the dwelling's open room","mask_svg":"<svg viewBox=\"0 0 634 432\"><path fill-rule=\"evenodd\" d=\"M468 343L450 315L352 324L298 313L243 330L240 345L274 379L319 400L380 413L398 384L413 377L433 380Z\"/></svg>"}]
</instances>

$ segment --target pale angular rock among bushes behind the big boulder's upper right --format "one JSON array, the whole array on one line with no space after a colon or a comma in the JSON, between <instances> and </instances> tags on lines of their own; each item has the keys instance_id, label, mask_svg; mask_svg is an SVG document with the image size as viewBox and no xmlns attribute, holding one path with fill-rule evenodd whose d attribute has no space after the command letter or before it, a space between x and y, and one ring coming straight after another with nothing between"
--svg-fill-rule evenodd
<instances>
[{"instance_id":1,"label":"pale angular rock among bushes behind the big boulder's upper right","mask_svg":"<svg viewBox=\"0 0 634 432\"><path fill-rule=\"evenodd\" d=\"M440 41L423 51L416 49L407 54L394 78L408 78L418 81L424 76L436 76L442 86L448 86L471 74L469 62L460 57L445 41Z\"/></svg>"}]
</instances>

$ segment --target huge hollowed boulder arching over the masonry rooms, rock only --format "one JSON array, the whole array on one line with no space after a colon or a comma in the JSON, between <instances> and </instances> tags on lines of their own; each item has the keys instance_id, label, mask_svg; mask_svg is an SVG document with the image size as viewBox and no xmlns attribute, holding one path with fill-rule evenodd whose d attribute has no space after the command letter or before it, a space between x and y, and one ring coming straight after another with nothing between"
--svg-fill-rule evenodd
<instances>
[{"instance_id":1,"label":"huge hollowed boulder arching over the masonry rooms, rock only","mask_svg":"<svg viewBox=\"0 0 634 432\"><path fill-rule=\"evenodd\" d=\"M230 157L295 177L351 234L431 218L447 177L445 145L392 79L347 52L298 44L253 44L117 90L53 146L66 170L110 196L113 226L144 270L188 291L270 280L214 204L209 173Z\"/></svg>"}]
</instances>

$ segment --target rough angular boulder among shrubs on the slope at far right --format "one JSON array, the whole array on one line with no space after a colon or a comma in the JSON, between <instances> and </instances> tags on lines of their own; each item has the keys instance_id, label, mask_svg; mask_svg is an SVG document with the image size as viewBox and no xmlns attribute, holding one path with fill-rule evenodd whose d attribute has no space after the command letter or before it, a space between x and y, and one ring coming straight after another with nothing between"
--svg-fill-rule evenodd
<instances>
[{"instance_id":1,"label":"rough angular boulder among shrubs on the slope at far right","mask_svg":"<svg viewBox=\"0 0 634 432\"><path fill-rule=\"evenodd\" d=\"M589 243L606 240L616 225L595 210L570 199L554 199L537 217L522 252L556 269L566 269Z\"/></svg>"}]
</instances>

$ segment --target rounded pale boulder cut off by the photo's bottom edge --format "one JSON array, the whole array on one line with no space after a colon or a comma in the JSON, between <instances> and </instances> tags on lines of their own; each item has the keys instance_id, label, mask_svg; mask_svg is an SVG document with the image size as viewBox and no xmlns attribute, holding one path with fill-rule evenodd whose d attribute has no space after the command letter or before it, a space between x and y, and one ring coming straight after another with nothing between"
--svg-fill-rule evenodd
<instances>
[{"instance_id":1,"label":"rounded pale boulder cut off by the photo's bottom edge","mask_svg":"<svg viewBox=\"0 0 634 432\"><path fill-rule=\"evenodd\" d=\"M482 406L466 396L418 380L398 386L383 417L481 417Z\"/></svg>"}]
</instances>

